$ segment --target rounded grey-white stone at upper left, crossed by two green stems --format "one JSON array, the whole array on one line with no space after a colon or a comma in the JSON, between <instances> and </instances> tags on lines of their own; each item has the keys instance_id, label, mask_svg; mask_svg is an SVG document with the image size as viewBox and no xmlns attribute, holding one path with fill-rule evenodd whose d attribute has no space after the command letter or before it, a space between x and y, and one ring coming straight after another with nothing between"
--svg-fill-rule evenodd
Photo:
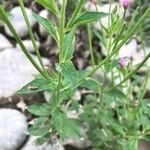
<instances>
[{"instance_id":1,"label":"rounded grey-white stone at upper left, crossed by two green stems","mask_svg":"<svg viewBox=\"0 0 150 150\"><path fill-rule=\"evenodd\" d=\"M32 15L32 11L28 8L25 8L25 10L26 10L30 25L33 26L36 23L36 21ZM10 11L9 19L11 20L13 27L15 28L15 30L21 37L25 37L28 34L28 29L24 21L24 18L22 16L20 7L15 7ZM6 33L9 36L13 36L12 33L9 31L8 27L6 25L4 27L5 27Z\"/></svg>"}]
</instances>

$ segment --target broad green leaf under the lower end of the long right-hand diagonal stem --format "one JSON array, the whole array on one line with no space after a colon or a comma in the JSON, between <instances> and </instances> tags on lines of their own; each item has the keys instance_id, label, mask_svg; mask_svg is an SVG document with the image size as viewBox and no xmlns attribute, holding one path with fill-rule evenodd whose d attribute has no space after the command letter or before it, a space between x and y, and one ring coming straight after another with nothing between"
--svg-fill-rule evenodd
<instances>
[{"instance_id":1,"label":"broad green leaf under the lower end of the long right-hand diagonal stem","mask_svg":"<svg viewBox=\"0 0 150 150\"><path fill-rule=\"evenodd\" d=\"M100 92L101 90L101 85L97 80L87 78L85 81L83 81L80 85L82 88L87 88L89 90L95 91L95 92Z\"/></svg>"}]
</instances>

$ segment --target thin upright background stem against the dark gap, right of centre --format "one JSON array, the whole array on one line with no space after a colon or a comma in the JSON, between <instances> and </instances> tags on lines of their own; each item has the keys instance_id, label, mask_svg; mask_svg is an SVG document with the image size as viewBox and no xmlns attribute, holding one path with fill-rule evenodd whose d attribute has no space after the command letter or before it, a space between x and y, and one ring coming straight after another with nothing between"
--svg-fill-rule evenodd
<instances>
[{"instance_id":1,"label":"thin upright background stem against the dark gap, right of centre","mask_svg":"<svg viewBox=\"0 0 150 150\"><path fill-rule=\"evenodd\" d=\"M89 43L89 49L90 49L90 55L91 55L91 62L92 66L95 66L94 61L94 53L93 53L93 47L92 47L92 34L91 34L91 24L87 25L87 31L88 31L88 43Z\"/></svg>"}]
</instances>

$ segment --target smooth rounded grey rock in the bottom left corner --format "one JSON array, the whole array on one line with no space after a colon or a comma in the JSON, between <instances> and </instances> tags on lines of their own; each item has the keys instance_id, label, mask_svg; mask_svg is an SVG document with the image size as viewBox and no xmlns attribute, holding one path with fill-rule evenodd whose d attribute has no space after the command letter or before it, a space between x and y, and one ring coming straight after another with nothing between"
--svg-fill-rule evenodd
<instances>
[{"instance_id":1,"label":"smooth rounded grey rock in the bottom left corner","mask_svg":"<svg viewBox=\"0 0 150 150\"><path fill-rule=\"evenodd\" d=\"M26 139L26 117L17 110L0 109L0 150L16 150Z\"/></svg>"}]
</instances>

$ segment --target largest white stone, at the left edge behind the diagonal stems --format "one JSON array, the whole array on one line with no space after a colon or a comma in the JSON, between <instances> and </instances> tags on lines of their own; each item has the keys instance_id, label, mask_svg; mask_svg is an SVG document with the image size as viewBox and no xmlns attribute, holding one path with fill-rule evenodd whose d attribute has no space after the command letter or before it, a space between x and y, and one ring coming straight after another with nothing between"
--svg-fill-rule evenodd
<instances>
[{"instance_id":1,"label":"largest white stone, at the left edge behind the diagonal stems","mask_svg":"<svg viewBox=\"0 0 150 150\"><path fill-rule=\"evenodd\" d=\"M32 55L36 62L37 57ZM45 66L49 60L43 58ZM33 67L25 54L18 49L5 49L0 53L0 98L14 95L25 84L34 79L39 72Z\"/></svg>"}]
</instances>

